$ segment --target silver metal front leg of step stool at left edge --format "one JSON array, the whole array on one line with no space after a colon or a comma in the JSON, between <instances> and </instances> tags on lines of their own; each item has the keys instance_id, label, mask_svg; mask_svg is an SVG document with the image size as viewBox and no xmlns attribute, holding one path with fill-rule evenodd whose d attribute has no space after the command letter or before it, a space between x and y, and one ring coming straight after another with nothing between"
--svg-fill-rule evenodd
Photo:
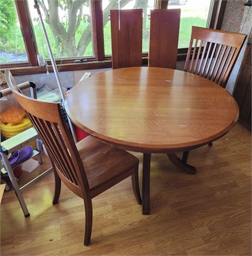
<instances>
[{"instance_id":1,"label":"silver metal front leg of step stool at left edge","mask_svg":"<svg viewBox=\"0 0 252 256\"><path fill-rule=\"evenodd\" d=\"M22 195L22 193L19 189L17 180L16 180L16 178L14 176L14 173L13 173L13 170L11 168L11 165L9 164L8 156L1 152L1 157L2 157L2 161L3 161L3 165L6 168L7 173L9 175L9 179L11 180L12 186L13 186L15 192L16 192L16 195L17 195L19 204L21 205L21 208L23 210L24 216L28 217L30 214L29 214L29 211L27 209L26 202L23 199L23 195Z\"/></svg>"}]
</instances>

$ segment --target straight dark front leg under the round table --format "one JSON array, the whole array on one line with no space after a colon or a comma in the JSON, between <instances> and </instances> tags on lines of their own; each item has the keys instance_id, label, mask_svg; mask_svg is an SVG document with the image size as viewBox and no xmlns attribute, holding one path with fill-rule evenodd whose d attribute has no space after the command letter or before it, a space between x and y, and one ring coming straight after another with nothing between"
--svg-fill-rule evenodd
<instances>
[{"instance_id":1,"label":"straight dark front leg under the round table","mask_svg":"<svg viewBox=\"0 0 252 256\"><path fill-rule=\"evenodd\" d=\"M144 154L143 157L143 215L150 214L150 157L151 154Z\"/></svg>"}]
</instances>

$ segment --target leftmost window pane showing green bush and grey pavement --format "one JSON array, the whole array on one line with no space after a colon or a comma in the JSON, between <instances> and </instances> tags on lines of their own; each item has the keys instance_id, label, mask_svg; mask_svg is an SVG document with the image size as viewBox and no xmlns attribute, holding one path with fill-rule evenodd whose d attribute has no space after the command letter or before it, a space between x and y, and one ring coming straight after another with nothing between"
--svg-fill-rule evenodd
<instances>
[{"instance_id":1,"label":"leftmost window pane showing green bush and grey pavement","mask_svg":"<svg viewBox=\"0 0 252 256\"><path fill-rule=\"evenodd\" d=\"M0 0L0 63L27 62L14 0Z\"/></svg>"}]
</instances>

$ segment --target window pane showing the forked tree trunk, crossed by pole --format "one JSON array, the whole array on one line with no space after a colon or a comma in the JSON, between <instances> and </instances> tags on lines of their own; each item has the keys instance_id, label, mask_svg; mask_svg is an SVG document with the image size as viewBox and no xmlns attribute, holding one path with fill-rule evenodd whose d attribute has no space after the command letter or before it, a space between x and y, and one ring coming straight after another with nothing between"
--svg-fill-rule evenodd
<instances>
[{"instance_id":1,"label":"window pane showing the forked tree trunk, crossed by pole","mask_svg":"<svg viewBox=\"0 0 252 256\"><path fill-rule=\"evenodd\" d=\"M29 0L28 3L38 52L44 58L49 58L38 13L33 7L34 1ZM89 0L44 0L38 1L38 4L54 57L93 56Z\"/></svg>"}]
</instances>

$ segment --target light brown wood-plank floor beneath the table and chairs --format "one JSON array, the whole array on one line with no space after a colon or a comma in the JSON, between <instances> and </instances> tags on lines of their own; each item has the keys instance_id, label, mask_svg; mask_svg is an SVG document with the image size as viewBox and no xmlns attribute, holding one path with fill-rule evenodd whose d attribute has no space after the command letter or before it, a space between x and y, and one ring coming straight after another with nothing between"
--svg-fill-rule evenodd
<instances>
[{"instance_id":1,"label":"light brown wood-plank floor beneath the table and chairs","mask_svg":"<svg viewBox=\"0 0 252 256\"><path fill-rule=\"evenodd\" d=\"M142 155L135 155L141 164ZM4 193L1 255L251 255L250 131L237 124L213 147L191 151L189 164L197 175L153 155L149 216L142 215L130 179L94 198L89 247L83 201L63 185L52 205L53 174L23 193L29 218L13 191Z\"/></svg>"}]
</instances>

